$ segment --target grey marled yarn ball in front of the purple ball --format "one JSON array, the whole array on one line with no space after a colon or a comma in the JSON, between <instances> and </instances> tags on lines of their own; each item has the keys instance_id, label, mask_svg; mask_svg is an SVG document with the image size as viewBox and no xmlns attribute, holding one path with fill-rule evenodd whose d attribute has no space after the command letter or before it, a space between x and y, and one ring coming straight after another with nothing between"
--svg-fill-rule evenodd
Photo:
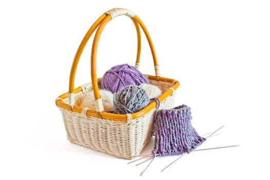
<instances>
[{"instance_id":1,"label":"grey marled yarn ball in front of the purple ball","mask_svg":"<svg viewBox=\"0 0 270 180\"><path fill-rule=\"evenodd\" d=\"M143 88L136 85L128 85L114 94L114 113L136 113L146 107L150 99Z\"/></svg>"}]
</instances>

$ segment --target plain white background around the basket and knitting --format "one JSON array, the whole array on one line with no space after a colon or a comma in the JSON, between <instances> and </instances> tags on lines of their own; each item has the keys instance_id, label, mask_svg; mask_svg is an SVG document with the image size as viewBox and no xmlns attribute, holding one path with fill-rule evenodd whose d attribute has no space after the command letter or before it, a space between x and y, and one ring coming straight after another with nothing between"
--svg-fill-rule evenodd
<instances>
[{"instance_id":1,"label":"plain white background around the basket and knitting","mask_svg":"<svg viewBox=\"0 0 270 180\"><path fill-rule=\"evenodd\" d=\"M68 91L69 70L86 31L105 11L123 7L146 24L161 74L179 80L176 105L192 110L200 134L220 135L160 172L176 157L135 167L70 143L55 99ZM269 1L1 1L1 179L269 179ZM98 76L134 65L136 31L128 17L104 29ZM93 38L81 57L76 87L90 82ZM141 71L154 74L142 39ZM143 150L149 153L153 141ZM198 148L198 149L199 149Z\"/></svg>"}]
</instances>

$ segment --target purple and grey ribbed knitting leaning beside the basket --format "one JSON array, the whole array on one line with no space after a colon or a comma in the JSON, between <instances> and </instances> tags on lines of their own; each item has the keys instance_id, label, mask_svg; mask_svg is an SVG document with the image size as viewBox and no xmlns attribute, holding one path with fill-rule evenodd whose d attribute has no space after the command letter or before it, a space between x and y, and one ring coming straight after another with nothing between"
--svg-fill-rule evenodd
<instances>
[{"instance_id":1,"label":"purple and grey ribbed knitting leaning beside the basket","mask_svg":"<svg viewBox=\"0 0 270 180\"><path fill-rule=\"evenodd\" d=\"M191 119L190 107L185 104L159 110L154 121L155 147L152 154L179 155L200 146L206 139L195 131Z\"/></svg>"}]
</instances>

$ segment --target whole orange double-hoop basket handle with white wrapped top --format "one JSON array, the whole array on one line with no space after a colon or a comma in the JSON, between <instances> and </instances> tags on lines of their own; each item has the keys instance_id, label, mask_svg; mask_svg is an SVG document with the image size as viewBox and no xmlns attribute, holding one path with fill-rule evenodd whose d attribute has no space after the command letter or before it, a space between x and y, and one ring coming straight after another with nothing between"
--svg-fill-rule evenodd
<instances>
[{"instance_id":1,"label":"whole orange double-hoop basket handle with white wrapped top","mask_svg":"<svg viewBox=\"0 0 270 180\"><path fill-rule=\"evenodd\" d=\"M70 109L72 110L72 107L75 104L75 94L74 94L74 80L75 80L75 73L76 73L76 68L78 65L78 61L80 59L80 55L83 51L83 48L85 47L88 39L91 37L92 33L95 31L95 29L98 27L93 45L92 45L92 52L91 52L91 79L92 79L92 86L93 86L93 91L94 91L94 96L95 96L95 102L96 102L96 109L98 112L99 117L102 115L103 105L102 105L102 100L99 95L99 89L98 89L98 81L97 81L97 73L96 73L96 57L97 57L97 47L98 47L98 42L100 39L100 35L102 33L102 30L104 29L105 25L111 21L114 17L119 16L119 15L127 15L129 16L132 21L135 24L136 30L137 30L137 37L138 37L138 49L137 49L137 59L136 59L136 65L139 64L139 56L140 56L140 31L138 30L138 24L142 28L143 32L146 35L146 38L148 40L152 56L153 56L153 61L154 61L154 67L155 67L155 74L156 74L156 79L159 79L159 66L157 63L157 58L156 58L156 53L155 49L151 40L151 37L149 35L149 32L145 25L142 23L142 21L139 19L137 15L135 15L132 11L129 11L127 9L120 9L120 8L115 8L110 11L105 12L102 16L99 17L99 19L93 24L93 26L88 30L86 33L84 39L82 40L76 56L73 61L73 66L71 67L70 71L70 77L69 77L69 92L68 92L68 98L69 98L69 106L71 107ZM138 33L139 32L139 33ZM136 66L135 65L135 66ZM138 67L138 66L137 66Z\"/></svg>"}]
</instances>

